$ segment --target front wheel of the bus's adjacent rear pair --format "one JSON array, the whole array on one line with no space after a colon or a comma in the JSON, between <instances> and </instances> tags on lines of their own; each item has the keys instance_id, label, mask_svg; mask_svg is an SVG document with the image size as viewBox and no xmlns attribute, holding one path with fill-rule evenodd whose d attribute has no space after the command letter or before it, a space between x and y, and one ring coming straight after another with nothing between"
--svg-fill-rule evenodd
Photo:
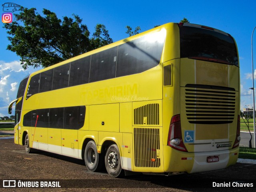
<instances>
[{"instance_id":1,"label":"front wheel of the bus's adjacent rear pair","mask_svg":"<svg viewBox=\"0 0 256 192\"><path fill-rule=\"evenodd\" d=\"M94 141L89 141L84 150L84 162L88 170L94 172L101 170L103 166L102 154L98 153Z\"/></svg>"}]
</instances>

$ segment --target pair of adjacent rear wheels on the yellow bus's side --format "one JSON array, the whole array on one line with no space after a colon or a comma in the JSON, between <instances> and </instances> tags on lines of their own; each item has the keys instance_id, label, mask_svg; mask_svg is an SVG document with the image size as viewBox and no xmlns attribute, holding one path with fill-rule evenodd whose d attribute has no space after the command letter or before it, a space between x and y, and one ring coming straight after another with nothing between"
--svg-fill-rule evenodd
<instances>
[{"instance_id":1,"label":"pair of adjacent rear wheels on the yellow bus's side","mask_svg":"<svg viewBox=\"0 0 256 192\"><path fill-rule=\"evenodd\" d=\"M116 144L110 145L105 156L103 156L103 154L98 153L94 141L89 141L84 151L84 162L88 170L92 172L101 170L105 162L106 170L110 176L121 177L124 173L121 166L120 152Z\"/></svg>"}]
</instances>

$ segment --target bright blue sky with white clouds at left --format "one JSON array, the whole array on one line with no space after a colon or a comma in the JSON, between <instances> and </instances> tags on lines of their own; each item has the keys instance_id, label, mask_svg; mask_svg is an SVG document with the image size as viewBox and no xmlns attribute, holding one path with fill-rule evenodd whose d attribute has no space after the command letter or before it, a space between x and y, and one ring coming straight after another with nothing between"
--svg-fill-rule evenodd
<instances>
[{"instance_id":1,"label":"bright blue sky with white clouds at left","mask_svg":"<svg viewBox=\"0 0 256 192\"><path fill-rule=\"evenodd\" d=\"M141 32L156 25L179 22L186 17L190 23L217 28L231 34L236 40L240 59L241 105L252 106L252 57L251 36L256 26L255 0L0 0L13 2L27 8L36 8L42 14L46 8L58 18L78 14L91 34L96 24L104 24L114 42L126 38L125 26L140 26ZM2 15L2 6L0 7ZM0 117L8 115L8 104L16 98L19 82L28 74L38 70L33 67L24 71L16 53L6 50L9 44L6 30L0 23ZM256 55L256 32L254 32L254 55ZM256 57L254 57L256 69ZM254 72L256 77L256 70Z\"/></svg>"}]
</instances>

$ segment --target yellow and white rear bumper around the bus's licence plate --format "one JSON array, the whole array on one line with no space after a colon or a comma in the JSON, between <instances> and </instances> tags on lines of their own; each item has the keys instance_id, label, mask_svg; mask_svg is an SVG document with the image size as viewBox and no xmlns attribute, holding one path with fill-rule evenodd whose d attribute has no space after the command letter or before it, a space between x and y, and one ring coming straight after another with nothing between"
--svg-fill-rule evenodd
<instances>
[{"instance_id":1,"label":"yellow and white rear bumper around the bus's licence plate","mask_svg":"<svg viewBox=\"0 0 256 192\"><path fill-rule=\"evenodd\" d=\"M226 168L235 164L239 147L212 152L181 152L164 146L164 172L204 172ZM207 162L207 156L218 156L218 162ZM169 161L168 161L169 160Z\"/></svg>"}]
</instances>

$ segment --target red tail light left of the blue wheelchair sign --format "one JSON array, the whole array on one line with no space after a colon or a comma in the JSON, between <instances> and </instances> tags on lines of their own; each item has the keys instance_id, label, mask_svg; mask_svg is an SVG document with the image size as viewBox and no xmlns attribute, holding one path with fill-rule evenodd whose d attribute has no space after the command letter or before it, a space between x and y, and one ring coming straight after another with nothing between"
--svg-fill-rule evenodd
<instances>
[{"instance_id":1,"label":"red tail light left of the blue wheelchair sign","mask_svg":"<svg viewBox=\"0 0 256 192\"><path fill-rule=\"evenodd\" d=\"M176 150L188 152L182 140L180 115L172 117L168 134L168 146Z\"/></svg>"}]
</instances>

